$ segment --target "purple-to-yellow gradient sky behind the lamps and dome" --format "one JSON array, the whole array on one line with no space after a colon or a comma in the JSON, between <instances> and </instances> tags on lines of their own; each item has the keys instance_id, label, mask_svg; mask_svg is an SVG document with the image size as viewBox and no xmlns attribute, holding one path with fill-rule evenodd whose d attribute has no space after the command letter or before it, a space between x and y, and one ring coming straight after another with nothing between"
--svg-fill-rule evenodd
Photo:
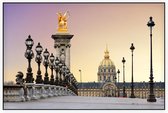
<instances>
[{"instance_id":1,"label":"purple-to-yellow gradient sky behind the lamps and dome","mask_svg":"<svg viewBox=\"0 0 168 113\"><path fill-rule=\"evenodd\" d=\"M125 80L131 81L131 43L134 43L134 81L149 81L150 38L146 25L152 16L153 75L154 81L164 81L164 4L4 4L4 81L15 81L18 71L24 73L28 61L24 57L25 40L31 35L33 51L40 42L55 54L54 40L57 33L56 13L70 12L68 31L71 40L71 72L80 81L97 81L100 62L108 45L110 59L123 76L122 57L125 57ZM37 63L32 59L33 77ZM45 68L41 65L44 77ZM49 75L50 75L50 70Z\"/></svg>"}]
</instances>

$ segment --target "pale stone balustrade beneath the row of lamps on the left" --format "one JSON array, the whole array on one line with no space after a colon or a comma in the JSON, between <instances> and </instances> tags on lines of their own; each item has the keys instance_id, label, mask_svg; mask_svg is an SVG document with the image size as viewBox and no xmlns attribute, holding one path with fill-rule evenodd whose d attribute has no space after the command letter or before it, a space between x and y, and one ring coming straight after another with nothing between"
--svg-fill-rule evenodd
<instances>
[{"instance_id":1,"label":"pale stone balustrade beneath the row of lamps on the left","mask_svg":"<svg viewBox=\"0 0 168 113\"><path fill-rule=\"evenodd\" d=\"M25 83L23 85L4 85L4 102L24 102L56 96L76 96L63 86Z\"/></svg>"}]
</instances>

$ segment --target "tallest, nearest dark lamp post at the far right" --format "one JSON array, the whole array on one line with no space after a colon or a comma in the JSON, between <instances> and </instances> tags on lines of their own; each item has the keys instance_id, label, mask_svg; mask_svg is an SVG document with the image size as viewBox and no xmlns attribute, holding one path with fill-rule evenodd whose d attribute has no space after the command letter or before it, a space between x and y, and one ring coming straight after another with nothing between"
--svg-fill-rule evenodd
<instances>
[{"instance_id":1,"label":"tallest, nearest dark lamp post at the far right","mask_svg":"<svg viewBox=\"0 0 168 113\"><path fill-rule=\"evenodd\" d=\"M154 83L153 83L153 65L152 65L152 27L155 26L154 21L152 20L152 17L149 18L149 22L147 23L147 26L150 27L150 81L149 81L149 87L150 87L150 93L148 96L147 101L148 102L156 102L156 98L154 95Z\"/></svg>"}]
</instances>

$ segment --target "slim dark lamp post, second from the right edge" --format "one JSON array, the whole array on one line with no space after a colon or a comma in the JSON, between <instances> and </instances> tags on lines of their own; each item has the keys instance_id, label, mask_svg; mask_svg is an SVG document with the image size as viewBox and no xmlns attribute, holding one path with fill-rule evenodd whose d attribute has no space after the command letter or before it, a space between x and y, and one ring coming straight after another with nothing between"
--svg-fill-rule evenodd
<instances>
[{"instance_id":1,"label":"slim dark lamp post, second from the right edge","mask_svg":"<svg viewBox=\"0 0 168 113\"><path fill-rule=\"evenodd\" d=\"M132 77L131 77L131 96L130 98L135 98L135 95L134 95L134 78L133 78L133 51L135 49L133 43L131 44L131 52L132 52Z\"/></svg>"}]
</instances>

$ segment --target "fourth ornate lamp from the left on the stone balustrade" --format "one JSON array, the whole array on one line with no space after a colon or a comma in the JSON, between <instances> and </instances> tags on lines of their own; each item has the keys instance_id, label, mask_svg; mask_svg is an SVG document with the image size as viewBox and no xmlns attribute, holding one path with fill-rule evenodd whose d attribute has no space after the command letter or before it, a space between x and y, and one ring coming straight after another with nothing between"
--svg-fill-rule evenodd
<instances>
[{"instance_id":1,"label":"fourth ornate lamp from the left on the stone balustrade","mask_svg":"<svg viewBox=\"0 0 168 113\"><path fill-rule=\"evenodd\" d=\"M51 53L50 55L50 69L51 69L51 78L50 78L50 84L54 85L54 75L53 75L53 69L54 69L54 55Z\"/></svg>"}]
</instances>

